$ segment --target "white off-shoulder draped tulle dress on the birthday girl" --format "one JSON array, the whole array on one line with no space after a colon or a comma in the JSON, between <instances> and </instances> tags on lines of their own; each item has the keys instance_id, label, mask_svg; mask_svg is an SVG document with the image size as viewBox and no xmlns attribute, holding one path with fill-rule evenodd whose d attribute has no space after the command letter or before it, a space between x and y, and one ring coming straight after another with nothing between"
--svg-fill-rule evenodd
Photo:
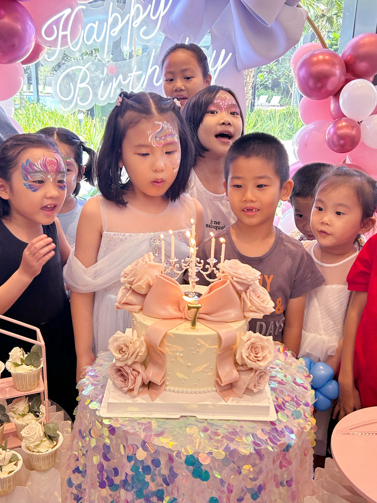
<instances>
[{"instance_id":1,"label":"white off-shoulder draped tulle dress on the birthday girl","mask_svg":"<svg viewBox=\"0 0 377 503\"><path fill-rule=\"evenodd\" d=\"M161 262L161 233L165 240L165 257L170 257L169 229L174 231L175 257L187 257L189 251L185 232L191 229L191 218L196 220L196 212L188 194L169 202L167 208L158 215L139 211L130 203L121 208L103 196L95 197L100 199L104 228L97 263L85 268L72 250L63 272L71 290L95 292L93 352L97 356L99 351L108 349L108 341L117 330L125 331L131 326L128 311L115 308L123 269L148 251L154 254L156 262ZM156 228L159 230L149 230Z\"/></svg>"}]
</instances>

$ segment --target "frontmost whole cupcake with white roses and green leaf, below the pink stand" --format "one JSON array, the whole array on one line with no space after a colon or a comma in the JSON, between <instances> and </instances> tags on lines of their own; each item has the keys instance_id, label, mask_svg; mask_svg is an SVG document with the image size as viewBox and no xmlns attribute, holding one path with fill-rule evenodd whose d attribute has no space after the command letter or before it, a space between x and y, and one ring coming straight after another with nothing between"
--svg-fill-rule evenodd
<instances>
[{"instance_id":1,"label":"frontmost whole cupcake with white roses and green leaf, below the pink stand","mask_svg":"<svg viewBox=\"0 0 377 503\"><path fill-rule=\"evenodd\" d=\"M31 423L22 430L24 440L22 450L29 455L32 470L44 471L52 468L56 462L58 448L63 435L56 423Z\"/></svg>"}]
</instances>

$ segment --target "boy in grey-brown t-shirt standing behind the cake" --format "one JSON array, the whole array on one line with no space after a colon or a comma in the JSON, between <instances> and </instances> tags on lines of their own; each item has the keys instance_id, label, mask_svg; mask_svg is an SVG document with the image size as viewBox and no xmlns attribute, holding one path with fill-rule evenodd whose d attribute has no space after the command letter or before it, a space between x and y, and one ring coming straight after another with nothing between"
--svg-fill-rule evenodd
<instances>
[{"instance_id":1,"label":"boy in grey-brown t-shirt standing behind the cake","mask_svg":"<svg viewBox=\"0 0 377 503\"><path fill-rule=\"evenodd\" d=\"M224 186L237 220L215 235L215 258L220 260L218 238L223 236L225 260L238 259L260 271L261 285L275 310L262 319L251 319L249 330L272 336L297 355L306 293L324 279L301 242L273 225L279 200L287 201L293 188L284 145L265 133L236 140L226 157ZM210 249L208 238L197 256L206 261Z\"/></svg>"}]
</instances>

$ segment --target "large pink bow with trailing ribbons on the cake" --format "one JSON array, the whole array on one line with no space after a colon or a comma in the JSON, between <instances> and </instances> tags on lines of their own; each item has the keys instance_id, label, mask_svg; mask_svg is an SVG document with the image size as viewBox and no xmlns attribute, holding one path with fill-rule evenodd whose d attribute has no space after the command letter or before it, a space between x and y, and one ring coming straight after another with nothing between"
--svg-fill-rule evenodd
<instances>
[{"instance_id":1,"label":"large pink bow with trailing ribbons on the cake","mask_svg":"<svg viewBox=\"0 0 377 503\"><path fill-rule=\"evenodd\" d=\"M216 388L224 400L228 400L230 396L234 396L231 384L239 380L233 361L237 333L229 322L244 318L240 300L229 281L219 280L209 286L200 298L200 303L202 307L198 318L220 336L221 343L216 357ZM143 313L152 318L160 318L150 325L145 334L149 348L149 365L146 369L151 381L149 394L155 399L164 388L166 354L162 347L163 338L167 331L183 320L191 319L192 314L187 310L187 302L182 297L179 283L162 274L156 276L145 296Z\"/></svg>"}]
</instances>

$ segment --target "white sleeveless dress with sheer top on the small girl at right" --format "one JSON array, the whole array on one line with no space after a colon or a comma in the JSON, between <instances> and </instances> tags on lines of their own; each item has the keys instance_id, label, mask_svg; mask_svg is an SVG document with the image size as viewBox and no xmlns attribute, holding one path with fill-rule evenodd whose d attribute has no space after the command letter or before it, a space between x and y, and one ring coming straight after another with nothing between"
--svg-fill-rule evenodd
<instances>
[{"instance_id":1,"label":"white sleeveless dress with sheer top on the small girl at right","mask_svg":"<svg viewBox=\"0 0 377 503\"><path fill-rule=\"evenodd\" d=\"M307 356L315 362L325 362L334 355L339 339L343 337L344 319L350 291L347 274L358 251L336 264L324 264L313 255L317 241L303 241L325 278L325 283L307 293L303 334L299 357Z\"/></svg>"}]
</instances>

